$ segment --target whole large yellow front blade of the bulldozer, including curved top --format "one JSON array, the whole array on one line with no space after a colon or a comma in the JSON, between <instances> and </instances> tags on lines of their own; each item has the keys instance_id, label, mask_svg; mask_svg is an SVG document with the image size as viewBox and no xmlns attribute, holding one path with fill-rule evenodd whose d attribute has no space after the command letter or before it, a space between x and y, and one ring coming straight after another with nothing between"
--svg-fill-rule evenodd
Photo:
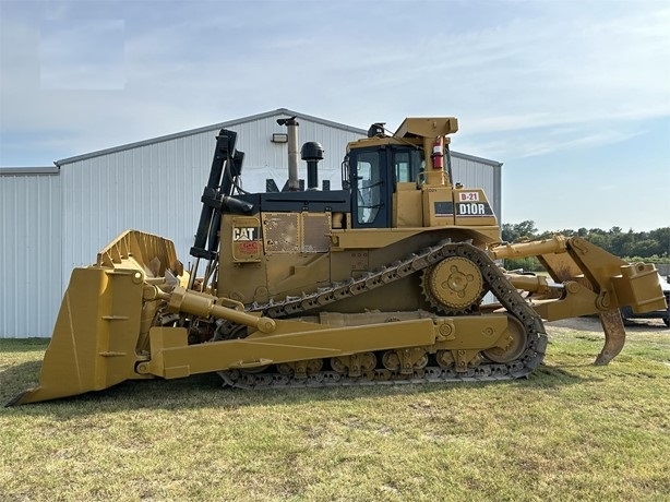
<instances>
[{"instance_id":1,"label":"whole large yellow front blade of the bulldozer, including curved top","mask_svg":"<svg viewBox=\"0 0 670 502\"><path fill-rule=\"evenodd\" d=\"M39 385L7 406L100 391L144 379L135 364L147 359L155 310L143 302L145 280L181 275L175 244L163 237L128 230L97 255L95 265L74 268L56 319Z\"/></svg>"}]
</instances>

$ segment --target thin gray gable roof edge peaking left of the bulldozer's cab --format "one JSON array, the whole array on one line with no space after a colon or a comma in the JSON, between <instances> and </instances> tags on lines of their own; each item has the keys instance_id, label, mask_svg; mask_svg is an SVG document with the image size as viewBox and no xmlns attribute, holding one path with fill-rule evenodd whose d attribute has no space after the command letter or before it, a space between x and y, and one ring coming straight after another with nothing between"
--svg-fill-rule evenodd
<instances>
[{"instance_id":1,"label":"thin gray gable roof edge peaking left of the bulldozer's cab","mask_svg":"<svg viewBox=\"0 0 670 502\"><path fill-rule=\"evenodd\" d=\"M335 129L342 129L345 131L354 132L356 134L362 134L362 135L368 134L368 131L364 129L354 128L351 125L333 122L331 120L321 119L319 117L312 117L310 115L301 113L295 110L289 110L287 108L277 108L276 110L265 111L264 113L251 115L249 117L242 117L241 119L235 119L235 120L229 120L227 122L214 123L212 125L205 125L205 127L198 128L198 129L189 129L188 131L181 131L181 132L177 132L174 134L167 134L165 136L153 138L149 140L139 141L135 143L128 143L125 145L115 146L112 148L99 150L97 152L91 152L88 154L76 155L74 157L68 157L61 160L56 160L53 164L60 167L63 164L72 164L79 160L84 160L84 159L92 158L92 157L98 157L100 155L107 155L107 154L112 154L117 152L122 152L124 150L136 148L139 146L146 146L149 144L161 143L164 141L176 140L178 138L186 138L192 134L199 134L201 132L216 131L216 130L224 129L224 128L230 128L232 125L239 125L240 123L252 122L254 120L266 119L268 117L275 117L275 116L280 116L280 115L285 115L288 117L295 116L295 117L298 117L299 119L310 120L312 122L321 123L323 125L327 125L327 127L335 128Z\"/></svg>"}]
</instances>

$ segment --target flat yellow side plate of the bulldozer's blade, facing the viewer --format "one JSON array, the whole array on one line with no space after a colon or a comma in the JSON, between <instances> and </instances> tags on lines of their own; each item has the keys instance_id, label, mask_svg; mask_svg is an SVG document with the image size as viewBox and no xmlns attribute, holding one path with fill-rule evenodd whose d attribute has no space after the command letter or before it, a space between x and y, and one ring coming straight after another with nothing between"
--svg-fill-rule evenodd
<instances>
[{"instance_id":1,"label":"flat yellow side plate of the bulldozer's blade, facing the viewer","mask_svg":"<svg viewBox=\"0 0 670 502\"><path fill-rule=\"evenodd\" d=\"M137 378L141 275L136 271L75 268L45 354L39 385L7 406L73 396Z\"/></svg>"}]
</instances>

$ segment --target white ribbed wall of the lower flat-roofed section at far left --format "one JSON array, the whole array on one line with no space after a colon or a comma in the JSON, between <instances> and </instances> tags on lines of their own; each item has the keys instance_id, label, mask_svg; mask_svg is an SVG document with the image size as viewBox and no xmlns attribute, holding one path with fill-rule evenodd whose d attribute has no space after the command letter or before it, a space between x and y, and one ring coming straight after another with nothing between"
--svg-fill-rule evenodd
<instances>
[{"instance_id":1,"label":"white ribbed wall of the lower flat-roofed section at far left","mask_svg":"<svg viewBox=\"0 0 670 502\"><path fill-rule=\"evenodd\" d=\"M61 249L60 176L0 175L0 338L50 336Z\"/></svg>"}]
</instances>

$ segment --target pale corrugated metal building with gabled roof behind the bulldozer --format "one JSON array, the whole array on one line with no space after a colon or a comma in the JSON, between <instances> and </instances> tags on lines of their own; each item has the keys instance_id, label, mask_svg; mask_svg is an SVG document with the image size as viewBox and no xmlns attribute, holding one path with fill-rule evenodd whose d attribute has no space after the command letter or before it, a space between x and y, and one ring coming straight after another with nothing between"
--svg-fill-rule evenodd
<instances>
[{"instance_id":1,"label":"pale corrugated metal building with gabled roof behind the bulldozer","mask_svg":"<svg viewBox=\"0 0 670 502\"><path fill-rule=\"evenodd\" d=\"M171 239L188 266L218 130L238 133L237 150L246 154L244 190L265 191L267 178L279 188L286 181L288 146L275 134L286 132L277 119L294 116L300 143L318 141L324 147L320 180L339 189L346 144L367 130L286 108L64 158L56 168L0 169L5 267L0 337L50 336L72 268L93 263L98 250L125 229ZM482 187L499 219L501 166L452 152L454 181Z\"/></svg>"}]
</instances>

